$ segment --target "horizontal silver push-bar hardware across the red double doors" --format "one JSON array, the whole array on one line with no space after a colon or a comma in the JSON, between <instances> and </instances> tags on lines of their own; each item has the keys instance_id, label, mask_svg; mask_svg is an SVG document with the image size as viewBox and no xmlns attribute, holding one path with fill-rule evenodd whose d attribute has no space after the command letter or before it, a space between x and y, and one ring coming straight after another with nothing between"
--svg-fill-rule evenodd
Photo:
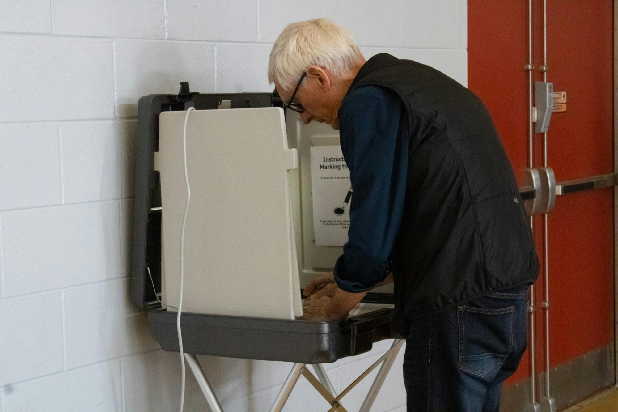
<instances>
[{"instance_id":1,"label":"horizontal silver push-bar hardware across the red double doors","mask_svg":"<svg viewBox=\"0 0 618 412\"><path fill-rule=\"evenodd\" d=\"M617 173L556 183L552 168L536 168L525 170L524 186L519 192L530 216L551 212L556 205L556 196L617 185Z\"/></svg>"}]
</instances>

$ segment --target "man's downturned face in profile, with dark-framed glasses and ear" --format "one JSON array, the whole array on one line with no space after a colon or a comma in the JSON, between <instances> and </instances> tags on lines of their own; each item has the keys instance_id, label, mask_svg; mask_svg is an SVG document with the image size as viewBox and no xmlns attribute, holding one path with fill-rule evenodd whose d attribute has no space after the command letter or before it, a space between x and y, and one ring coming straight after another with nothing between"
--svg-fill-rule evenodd
<instances>
[{"instance_id":1,"label":"man's downturned face in profile, with dark-framed glasses and ear","mask_svg":"<svg viewBox=\"0 0 618 412\"><path fill-rule=\"evenodd\" d=\"M307 75L294 96L294 103L305 109L303 113L300 113L300 119L304 124L315 120L330 124L333 129L339 130L339 119L337 119L339 105L333 105L334 102L329 93L331 91L330 79L324 79L328 73L323 70L316 71L312 68L313 66L307 69ZM274 84L284 103L286 105L290 103L294 88L283 90L277 82L274 82Z\"/></svg>"}]
</instances>

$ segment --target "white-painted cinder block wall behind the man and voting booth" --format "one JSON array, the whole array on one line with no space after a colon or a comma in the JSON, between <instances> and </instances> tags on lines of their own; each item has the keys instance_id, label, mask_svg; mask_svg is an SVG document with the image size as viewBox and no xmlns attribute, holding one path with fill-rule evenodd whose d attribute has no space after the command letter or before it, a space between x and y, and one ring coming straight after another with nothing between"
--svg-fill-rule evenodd
<instances>
[{"instance_id":1,"label":"white-painted cinder block wall behind the man and voting booth","mask_svg":"<svg viewBox=\"0 0 618 412\"><path fill-rule=\"evenodd\" d=\"M465 0L0 0L1 412L177 408L179 357L128 298L138 98L185 80L271 91L273 41L315 17L349 28L366 58L387 51L467 84ZM328 365L334 386L389 345ZM233 412L268 410L291 366L200 360ZM404 410L401 363L373 410ZM187 382L185 410L208 410ZM327 409L303 378L286 408Z\"/></svg>"}]
</instances>

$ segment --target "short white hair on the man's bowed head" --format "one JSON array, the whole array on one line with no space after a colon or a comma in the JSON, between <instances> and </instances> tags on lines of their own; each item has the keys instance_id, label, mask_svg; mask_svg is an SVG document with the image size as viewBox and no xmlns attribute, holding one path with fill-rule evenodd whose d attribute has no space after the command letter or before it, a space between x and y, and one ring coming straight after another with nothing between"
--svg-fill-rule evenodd
<instances>
[{"instance_id":1,"label":"short white hair on the man's bowed head","mask_svg":"<svg viewBox=\"0 0 618 412\"><path fill-rule=\"evenodd\" d=\"M291 23L283 29L268 61L268 82L284 90L295 87L308 66L341 74L363 61L350 33L329 19Z\"/></svg>"}]
</instances>

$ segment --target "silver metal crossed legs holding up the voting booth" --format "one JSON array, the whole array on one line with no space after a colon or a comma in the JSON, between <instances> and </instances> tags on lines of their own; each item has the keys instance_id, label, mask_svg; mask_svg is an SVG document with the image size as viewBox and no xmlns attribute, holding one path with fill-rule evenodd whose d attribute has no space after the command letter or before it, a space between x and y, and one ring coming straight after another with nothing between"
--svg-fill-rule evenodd
<instances>
[{"instance_id":1,"label":"silver metal crossed legs holding up the voting booth","mask_svg":"<svg viewBox=\"0 0 618 412\"><path fill-rule=\"evenodd\" d=\"M328 412L347 412L344 406L341 405L341 398L343 398L353 387L355 387L358 382L365 379L365 377L376 369L379 364L382 364L380 367L378 374L373 380L373 384L369 389L365 397L365 401L363 401L363 405L360 407L359 412L368 412L373 405L373 401L375 401L376 396L382 384L384 383L384 379L388 375L388 372L391 370L392 363L395 361L397 357L397 353L401 349L401 345L404 343L402 339L396 339L391 346L391 349L386 351L375 363L373 363L370 367L366 369L357 379L354 380L347 388L345 388L339 395L336 395L334 388L332 387L331 380L328 379L326 375L326 371L324 371L324 367L321 364L313 365L315 373L317 377L307 369L307 366L303 363L295 363L292 366L292 371L287 376L286 382L284 382L281 390L279 391L279 395L275 399L273 403L273 407L270 412L281 412L283 406L286 405L287 399L290 397L290 393L292 393L292 389L298 382L298 378L302 374L305 378L307 378L308 382L322 395L326 401L331 405L331 409ZM217 400L216 395L213 392L213 388L208 383L208 379L206 379L206 375L204 371L201 369L200 363L194 354L185 353L185 359L187 359L187 363L195 375L195 379L200 385L201 391L204 393L204 397L206 401L208 401L208 405L210 406L213 412L223 412L219 401Z\"/></svg>"}]
</instances>

